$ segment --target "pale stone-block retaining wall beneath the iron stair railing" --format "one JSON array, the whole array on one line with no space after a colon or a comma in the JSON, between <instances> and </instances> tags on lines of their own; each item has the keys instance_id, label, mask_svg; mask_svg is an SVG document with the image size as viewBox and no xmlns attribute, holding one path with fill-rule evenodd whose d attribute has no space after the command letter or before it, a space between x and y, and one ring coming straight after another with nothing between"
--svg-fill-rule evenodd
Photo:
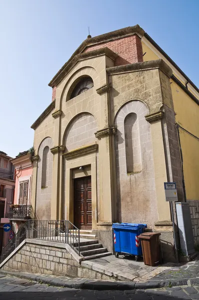
<instances>
[{"instance_id":1,"label":"pale stone-block retaining wall beneath the iron stair railing","mask_svg":"<svg viewBox=\"0 0 199 300\"><path fill-rule=\"evenodd\" d=\"M78 256L76 253L75 255ZM66 250L65 244L33 239L25 239L19 245L19 249L13 255L10 254L5 263L1 263L0 269L89 279L118 280L114 276L108 276L81 266L73 255Z\"/></svg>"}]
</instances>

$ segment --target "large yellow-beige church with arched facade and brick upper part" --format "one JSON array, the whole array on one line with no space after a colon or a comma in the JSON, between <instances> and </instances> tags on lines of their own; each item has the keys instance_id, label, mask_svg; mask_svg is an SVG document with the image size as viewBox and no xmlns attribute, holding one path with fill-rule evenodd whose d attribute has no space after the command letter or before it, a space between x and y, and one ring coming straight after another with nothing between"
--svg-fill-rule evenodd
<instances>
[{"instance_id":1,"label":"large yellow-beige church with arched facade and brick upper part","mask_svg":"<svg viewBox=\"0 0 199 300\"><path fill-rule=\"evenodd\" d=\"M49 86L31 126L35 218L70 220L109 252L113 222L146 223L174 260L175 181L198 243L199 90L163 50L138 25L89 35Z\"/></svg>"}]
</instances>

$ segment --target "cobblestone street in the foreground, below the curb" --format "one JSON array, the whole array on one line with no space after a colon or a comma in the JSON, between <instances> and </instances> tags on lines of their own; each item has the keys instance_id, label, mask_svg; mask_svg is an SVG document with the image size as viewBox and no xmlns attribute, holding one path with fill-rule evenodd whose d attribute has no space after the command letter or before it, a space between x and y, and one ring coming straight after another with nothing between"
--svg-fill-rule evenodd
<instances>
[{"instance_id":1,"label":"cobblestone street in the foreground, below the curb","mask_svg":"<svg viewBox=\"0 0 199 300\"><path fill-rule=\"evenodd\" d=\"M145 290L84 290L49 286L16 277L0 278L0 300L171 300L199 299L199 286Z\"/></svg>"}]
</instances>

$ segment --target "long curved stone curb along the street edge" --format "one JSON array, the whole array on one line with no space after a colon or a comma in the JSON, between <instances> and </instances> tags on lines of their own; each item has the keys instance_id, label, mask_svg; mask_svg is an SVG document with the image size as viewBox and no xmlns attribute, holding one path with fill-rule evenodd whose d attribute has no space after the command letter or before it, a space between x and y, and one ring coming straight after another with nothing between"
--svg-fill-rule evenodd
<instances>
[{"instance_id":1,"label":"long curved stone curb along the street edge","mask_svg":"<svg viewBox=\"0 0 199 300\"><path fill-rule=\"evenodd\" d=\"M42 282L44 284L50 284L59 287L68 287L75 289L91 289L91 290L130 290L130 289L148 289L148 288L160 288L160 287L172 287L181 285L199 285L199 277L195 278L183 278L177 279L165 279L165 280L150 280L145 282L135 281L100 281L91 279L79 280L62 280L59 278L45 277L42 275L34 275L32 273L20 273L11 271L0 271L1 274L19 277L22 279L33 280L36 282Z\"/></svg>"}]
</instances>

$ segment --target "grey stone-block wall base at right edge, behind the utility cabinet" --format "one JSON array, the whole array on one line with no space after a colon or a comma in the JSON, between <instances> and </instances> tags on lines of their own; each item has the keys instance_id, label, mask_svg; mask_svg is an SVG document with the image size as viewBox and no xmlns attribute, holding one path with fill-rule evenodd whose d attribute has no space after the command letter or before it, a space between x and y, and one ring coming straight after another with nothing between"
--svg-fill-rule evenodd
<instances>
[{"instance_id":1,"label":"grey stone-block wall base at right edge, behind the utility cabinet","mask_svg":"<svg viewBox=\"0 0 199 300\"><path fill-rule=\"evenodd\" d=\"M193 229L194 244L199 245L199 200L187 200Z\"/></svg>"}]
</instances>

